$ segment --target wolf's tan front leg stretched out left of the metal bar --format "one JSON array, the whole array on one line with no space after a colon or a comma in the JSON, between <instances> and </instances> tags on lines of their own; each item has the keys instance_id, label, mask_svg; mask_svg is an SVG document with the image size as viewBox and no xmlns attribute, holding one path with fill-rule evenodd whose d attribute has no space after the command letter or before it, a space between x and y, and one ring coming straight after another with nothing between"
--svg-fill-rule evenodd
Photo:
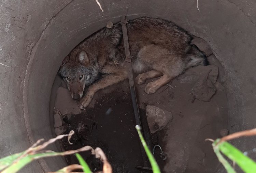
<instances>
[{"instance_id":1,"label":"wolf's tan front leg stretched out left of the metal bar","mask_svg":"<svg viewBox=\"0 0 256 173\"><path fill-rule=\"evenodd\" d=\"M102 73L106 74L100 80L96 81L95 83L91 84L88 88L86 96L82 98L79 102L80 109L85 109L93 99L94 94L104 89L110 85L123 81L128 77L126 69L118 69L113 66L105 66L102 69Z\"/></svg>"}]
</instances>

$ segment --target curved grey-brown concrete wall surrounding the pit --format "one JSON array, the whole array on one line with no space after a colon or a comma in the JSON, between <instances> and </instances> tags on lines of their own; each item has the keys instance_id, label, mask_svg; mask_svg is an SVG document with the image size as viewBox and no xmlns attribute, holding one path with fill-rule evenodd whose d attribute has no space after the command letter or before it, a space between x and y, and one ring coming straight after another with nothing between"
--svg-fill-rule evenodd
<instances>
[{"instance_id":1,"label":"curved grey-brown concrete wall surrounding the pit","mask_svg":"<svg viewBox=\"0 0 256 173\"><path fill-rule=\"evenodd\" d=\"M49 98L62 59L108 20L156 16L203 38L223 64L229 87L230 131L256 125L256 3L254 0L2 0L0 2L0 155L52 137ZM252 138L251 138L252 139ZM237 140L251 148L253 141ZM250 148L249 147L249 148ZM50 148L56 149L56 146ZM53 163L54 164L48 164ZM54 171L62 158L30 164L24 172Z\"/></svg>"}]
</instances>

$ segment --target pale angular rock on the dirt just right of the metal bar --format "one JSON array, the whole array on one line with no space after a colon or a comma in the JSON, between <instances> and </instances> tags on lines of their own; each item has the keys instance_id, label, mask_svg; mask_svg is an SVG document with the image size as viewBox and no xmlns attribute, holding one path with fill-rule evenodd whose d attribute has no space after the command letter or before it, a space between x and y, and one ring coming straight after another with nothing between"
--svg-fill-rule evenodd
<instances>
[{"instance_id":1,"label":"pale angular rock on the dirt just right of the metal bar","mask_svg":"<svg viewBox=\"0 0 256 173\"><path fill-rule=\"evenodd\" d=\"M146 116L151 133L163 129L173 119L171 112L151 105L146 106Z\"/></svg>"}]
</instances>

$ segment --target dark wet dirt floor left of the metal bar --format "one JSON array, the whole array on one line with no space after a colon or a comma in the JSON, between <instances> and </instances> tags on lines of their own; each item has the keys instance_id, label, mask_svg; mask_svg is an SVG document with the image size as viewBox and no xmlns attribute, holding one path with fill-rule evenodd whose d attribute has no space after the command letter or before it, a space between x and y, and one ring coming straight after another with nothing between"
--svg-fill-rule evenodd
<instances>
[{"instance_id":1,"label":"dark wet dirt floor left of the metal bar","mask_svg":"<svg viewBox=\"0 0 256 173\"><path fill-rule=\"evenodd\" d=\"M85 145L100 147L113 167L113 172L135 173L143 166L140 143L128 81L97 93L94 108L64 120L67 131L75 130L69 145L63 140L65 150L75 150ZM110 92L109 92L110 91ZM107 92L107 93L106 93ZM105 93L105 94L104 94ZM101 97L100 97L101 96ZM102 170L102 163L88 153L82 153L91 170ZM66 157L68 164L78 163L74 156Z\"/></svg>"}]
</instances>

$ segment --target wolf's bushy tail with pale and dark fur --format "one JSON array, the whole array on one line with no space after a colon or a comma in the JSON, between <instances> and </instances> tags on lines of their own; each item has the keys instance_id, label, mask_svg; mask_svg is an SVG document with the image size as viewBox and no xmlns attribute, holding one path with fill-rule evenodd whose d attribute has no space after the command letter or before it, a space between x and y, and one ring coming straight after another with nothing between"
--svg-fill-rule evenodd
<instances>
[{"instance_id":1,"label":"wolf's bushy tail with pale and dark fur","mask_svg":"<svg viewBox=\"0 0 256 173\"><path fill-rule=\"evenodd\" d=\"M187 68L194 67L198 65L209 65L205 54L199 50L196 45L191 45L190 50L186 54Z\"/></svg>"}]
</instances>

